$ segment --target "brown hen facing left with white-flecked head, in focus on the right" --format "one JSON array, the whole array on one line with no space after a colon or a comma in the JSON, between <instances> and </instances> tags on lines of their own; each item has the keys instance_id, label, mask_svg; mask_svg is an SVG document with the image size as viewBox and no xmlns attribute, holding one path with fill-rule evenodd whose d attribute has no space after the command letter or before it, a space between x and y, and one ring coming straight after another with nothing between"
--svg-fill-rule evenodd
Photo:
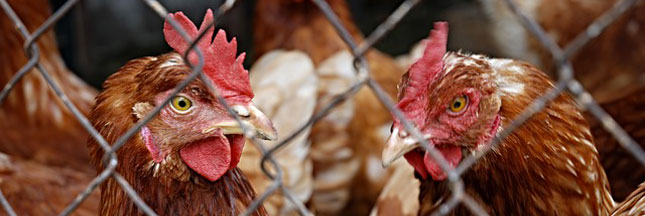
<instances>
[{"instance_id":1,"label":"brown hen facing left with white-flecked head, in focus on the right","mask_svg":"<svg viewBox=\"0 0 645 216\"><path fill-rule=\"evenodd\" d=\"M554 85L524 62L446 53L447 28L435 24L423 57L403 76L397 107L454 169ZM419 215L437 211L453 194L447 176L397 119L384 164L401 156L421 182ZM565 93L461 179L465 193L490 215L608 215L615 208L589 127ZM471 212L457 207L450 214Z\"/></svg>"}]
</instances>

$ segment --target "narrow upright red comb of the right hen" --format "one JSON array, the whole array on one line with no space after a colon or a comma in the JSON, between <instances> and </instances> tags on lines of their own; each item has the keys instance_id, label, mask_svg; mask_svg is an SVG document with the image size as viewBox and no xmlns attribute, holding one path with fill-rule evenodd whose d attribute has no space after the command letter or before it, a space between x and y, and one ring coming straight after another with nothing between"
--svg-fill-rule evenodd
<instances>
[{"instance_id":1,"label":"narrow upright red comb of the right hen","mask_svg":"<svg viewBox=\"0 0 645 216\"><path fill-rule=\"evenodd\" d=\"M448 42L448 23L436 22L430 32L423 57L408 70L408 84L402 89L403 97L396 106L417 126L425 119L428 105L428 85L438 79L443 70L443 55ZM398 124L398 119L395 118Z\"/></svg>"}]
</instances>

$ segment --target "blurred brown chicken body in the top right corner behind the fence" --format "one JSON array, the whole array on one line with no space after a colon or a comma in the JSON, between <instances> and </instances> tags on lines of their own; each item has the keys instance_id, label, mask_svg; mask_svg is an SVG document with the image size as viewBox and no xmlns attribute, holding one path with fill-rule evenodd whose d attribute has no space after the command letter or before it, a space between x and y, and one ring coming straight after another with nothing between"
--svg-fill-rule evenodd
<instances>
[{"instance_id":1,"label":"blurred brown chicken body in the top right corner behind the fence","mask_svg":"<svg viewBox=\"0 0 645 216\"><path fill-rule=\"evenodd\" d=\"M564 47L617 2L540 0L518 1L518 5ZM482 3L499 27L493 33L503 53L552 71L550 54L519 24L503 1ZM576 78L597 100L611 100L645 85L644 12L645 3L637 2L573 56Z\"/></svg>"}]
</instances>

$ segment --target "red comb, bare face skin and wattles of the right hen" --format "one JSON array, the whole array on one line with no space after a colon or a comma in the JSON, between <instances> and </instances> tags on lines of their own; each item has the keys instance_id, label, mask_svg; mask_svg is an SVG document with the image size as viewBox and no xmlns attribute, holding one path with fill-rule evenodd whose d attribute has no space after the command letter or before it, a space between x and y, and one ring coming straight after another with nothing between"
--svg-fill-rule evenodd
<instances>
[{"instance_id":1,"label":"red comb, bare face skin and wattles of the right hen","mask_svg":"<svg viewBox=\"0 0 645 216\"><path fill-rule=\"evenodd\" d=\"M453 85L441 88L437 86L448 73L444 68L447 39L447 23L435 23L435 30L430 34L423 57L415 62L403 77L397 107L422 134L430 137L429 144L434 146L446 159L449 167L454 169L462 159L462 148L466 145L472 147L474 144L477 147L487 143L497 130L498 124L491 123L489 126L491 130L488 133L483 132L483 135L476 138L474 143L463 143L464 134L479 120L481 98L492 92L481 92L467 86ZM430 88L436 88L442 92L434 92L435 96L430 98L429 94L434 90ZM461 96L467 99L465 109L459 113L448 110L448 105L456 97ZM404 131L400 121L396 116L394 118L393 127ZM415 150L406 153L405 158L424 179L428 174L436 181L446 178L438 163L427 152Z\"/></svg>"}]
</instances>

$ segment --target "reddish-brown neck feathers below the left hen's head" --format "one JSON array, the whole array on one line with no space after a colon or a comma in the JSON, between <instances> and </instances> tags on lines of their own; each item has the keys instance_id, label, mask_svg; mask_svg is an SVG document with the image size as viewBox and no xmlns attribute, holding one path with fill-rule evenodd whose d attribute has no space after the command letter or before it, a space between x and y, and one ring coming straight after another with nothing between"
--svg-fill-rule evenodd
<instances>
[{"instance_id":1,"label":"reddish-brown neck feathers below the left hen's head","mask_svg":"<svg viewBox=\"0 0 645 216\"><path fill-rule=\"evenodd\" d=\"M255 198L246 176L229 170L215 182L194 177L188 182L160 182L122 173L143 201L159 215L240 215ZM101 215L142 215L114 179L101 185ZM266 215L260 207L254 215Z\"/></svg>"}]
</instances>

